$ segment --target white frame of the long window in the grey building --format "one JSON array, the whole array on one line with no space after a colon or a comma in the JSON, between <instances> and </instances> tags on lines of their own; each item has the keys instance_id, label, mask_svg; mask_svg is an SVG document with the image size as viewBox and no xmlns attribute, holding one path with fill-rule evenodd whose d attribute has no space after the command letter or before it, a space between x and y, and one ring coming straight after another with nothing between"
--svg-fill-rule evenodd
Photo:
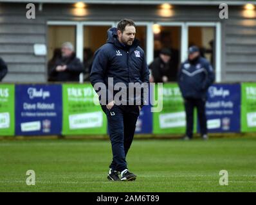
<instances>
[{"instance_id":1,"label":"white frame of the long window in the grey building","mask_svg":"<svg viewBox=\"0 0 256 205\"><path fill-rule=\"evenodd\" d=\"M84 47L84 26L116 26L117 21L68 21L68 20L48 20L47 26L76 26L76 53L80 60L83 60ZM188 53L188 27L202 26L215 27L215 81L221 82L221 22L153 22L138 21L136 25L147 28L147 63L154 60L154 33L153 25L160 26L181 26L181 62L187 59ZM80 83L83 83L82 77Z\"/></svg>"}]
</instances>

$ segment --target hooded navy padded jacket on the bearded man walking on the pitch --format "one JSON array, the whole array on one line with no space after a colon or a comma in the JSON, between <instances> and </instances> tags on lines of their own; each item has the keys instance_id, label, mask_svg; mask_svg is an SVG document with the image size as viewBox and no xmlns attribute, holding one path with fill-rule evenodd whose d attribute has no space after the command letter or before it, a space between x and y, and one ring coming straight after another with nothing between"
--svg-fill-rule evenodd
<instances>
[{"instance_id":1,"label":"hooded navy padded jacket on the bearded man walking on the pitch","mask_svg":"<svg viewBox=\"0 0 256 205\"><path fill-rule=\"evenodd\" d=\"M90 73L91 84L104 83L108 88L108 78L113 78L114 85L125 83L127 88L128 83L149 83L149 68L138 40L135 39L131 46L125 46L117 39L116 31L116 28L109 29L107 43L95 52ZM111 95L114 96L116 92ZM109 93L106 97L107 102L111 101Z\"/></svg>"}]
</instances>

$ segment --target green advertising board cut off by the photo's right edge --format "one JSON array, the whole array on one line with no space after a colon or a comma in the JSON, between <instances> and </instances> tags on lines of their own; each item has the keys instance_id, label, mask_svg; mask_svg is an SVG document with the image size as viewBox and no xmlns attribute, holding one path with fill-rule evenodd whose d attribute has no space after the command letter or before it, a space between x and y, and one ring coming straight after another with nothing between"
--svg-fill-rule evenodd
<instances>
[{"instance_id":1,"label":"green advertising board cut off by the photo's right edge","mask_svg":"<svg viewBox=\"0 0 256 205\"><path fill-rule=\"evenodd\" d=\"M256 131L256 83L242 83L241 131Z\"/></svg>"}]
</instances>

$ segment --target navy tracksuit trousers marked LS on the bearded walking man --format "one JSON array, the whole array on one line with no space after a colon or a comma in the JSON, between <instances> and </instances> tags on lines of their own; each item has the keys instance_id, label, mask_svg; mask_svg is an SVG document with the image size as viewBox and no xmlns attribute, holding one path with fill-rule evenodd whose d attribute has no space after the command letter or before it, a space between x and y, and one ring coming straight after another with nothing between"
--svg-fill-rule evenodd
<instances>
[{"instance_id":1,"label":"navy tracksuit trousers marked LS on the bearded walking man","mask_svg":"<svg viewBox=\"0 0 256 205\"><path fill-rule=\"evenodd\" d=\"M127 168L125 157L131 143L136 128L136 122L140 115L140 109L137 105L116 105L108 110L102 106L102 110L107 116L109 137L112 145L113 161L109 168L122 172Z\"/></svg>"}]
</instances>

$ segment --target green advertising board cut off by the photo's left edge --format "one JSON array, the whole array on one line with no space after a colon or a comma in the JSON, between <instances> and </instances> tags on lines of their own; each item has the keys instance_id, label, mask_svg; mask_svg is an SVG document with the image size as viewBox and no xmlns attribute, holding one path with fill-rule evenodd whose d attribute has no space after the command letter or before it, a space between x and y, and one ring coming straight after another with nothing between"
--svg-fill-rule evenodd
<instances>
[{"instance_id":1,"label":"green advertising board cut off by the photo's left edge","mask_svg":"<svg viewBox=\"0 0 256 205\"><path fill-rule=\"evenodd\" d=\"M14 85L0 84L0 135L14 136Z\"/></svg>"}]
</instances>

